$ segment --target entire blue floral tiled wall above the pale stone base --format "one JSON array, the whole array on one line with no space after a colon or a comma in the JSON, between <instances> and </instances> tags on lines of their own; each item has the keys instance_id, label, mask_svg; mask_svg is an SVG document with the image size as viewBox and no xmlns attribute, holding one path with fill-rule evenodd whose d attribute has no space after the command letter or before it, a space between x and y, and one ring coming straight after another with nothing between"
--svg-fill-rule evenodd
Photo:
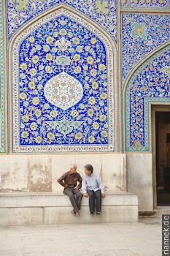
<instances>
[{"instance_id":1,"label":"entire blue floral tiled wall above the pale stone base","mask_svg":"<svg viewBox=\"0 0 170 256\"><path fill-rule=\"evenodd\" d=\"M150 104L169 103L169 1L3 4L1 151L4 88L9 151L150 151Z\"/></svg>"}]
</instances>

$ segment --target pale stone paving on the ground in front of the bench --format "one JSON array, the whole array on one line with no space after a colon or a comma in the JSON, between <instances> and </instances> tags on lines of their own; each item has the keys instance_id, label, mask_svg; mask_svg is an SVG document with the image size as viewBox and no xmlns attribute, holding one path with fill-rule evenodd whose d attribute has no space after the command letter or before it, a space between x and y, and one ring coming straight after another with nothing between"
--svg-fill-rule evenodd
<instances>
[{"instance_id":1,"label":"pale stone paving on the ground in front of the bench","mask_svg":"<svg viewBox=\"0 0 170 256\"><path fill-rule=\"evenodd\" d=\"M1 256L160 256L161 216L138 223L0 227Z\"/></svg>"}]
</instances>

